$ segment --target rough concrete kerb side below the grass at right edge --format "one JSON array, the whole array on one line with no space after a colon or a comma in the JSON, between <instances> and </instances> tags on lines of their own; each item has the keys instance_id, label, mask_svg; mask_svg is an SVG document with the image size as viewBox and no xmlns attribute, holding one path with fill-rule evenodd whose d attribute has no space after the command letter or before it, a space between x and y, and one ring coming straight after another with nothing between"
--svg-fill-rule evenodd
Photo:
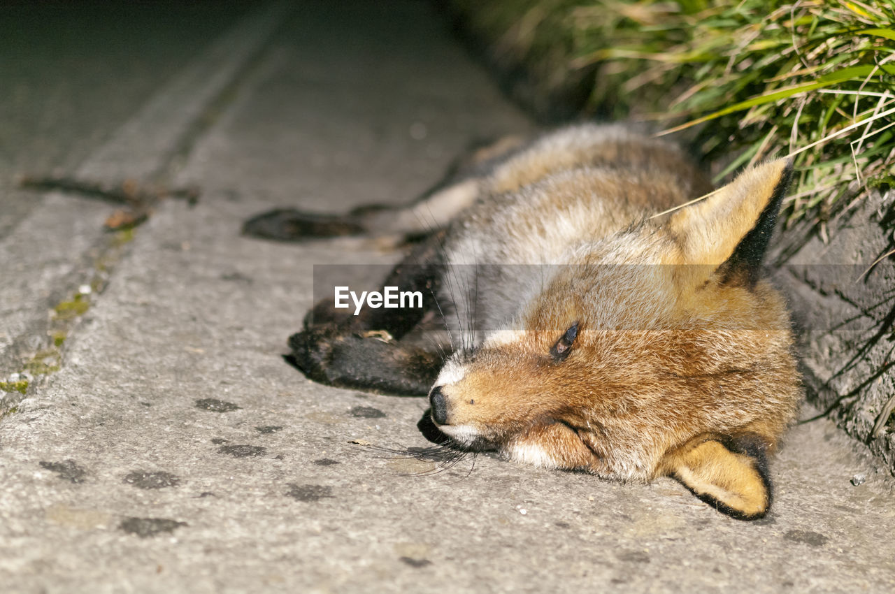
<instances>
[{"instance_id":1,"label":"rough concrete kerb side below the grass at right edge","mask_svg":"<svg viewBox=\"0 0 895 594\"><path fill-rule=\"evenodd\" d=\"M895 265L874 264L890 250L885 221L893 203L895 191L872 192L830 221L827 241L808 235L777 279L806 328L801 352L814 403L895 472Z\"/></svg>"}]
</instances>

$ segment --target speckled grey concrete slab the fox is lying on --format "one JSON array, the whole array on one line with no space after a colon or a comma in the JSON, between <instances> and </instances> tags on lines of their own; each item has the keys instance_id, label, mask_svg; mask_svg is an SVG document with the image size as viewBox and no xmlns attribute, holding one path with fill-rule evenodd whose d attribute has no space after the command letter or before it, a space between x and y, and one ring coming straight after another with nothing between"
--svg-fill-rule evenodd
<instances>
[{"instance_id":1,"label":"speckled grey concrete slab the fox is lying on","mask_svg":"<svg viewBox=\"0 0 895 594\"><path fill-rule=\"evenodd\" d=\"M137 231L62 369L0 420L2 590L895 590L893 481L826 420L772 462L771 514L737 522L669 479L433 472L387 451L429 445L424 399L282 361L313 265L396 254L253 241L245 217L408 199L531 128L426 4L297 4L175 173L200 203Z\"/></svg>"}]
</instances>

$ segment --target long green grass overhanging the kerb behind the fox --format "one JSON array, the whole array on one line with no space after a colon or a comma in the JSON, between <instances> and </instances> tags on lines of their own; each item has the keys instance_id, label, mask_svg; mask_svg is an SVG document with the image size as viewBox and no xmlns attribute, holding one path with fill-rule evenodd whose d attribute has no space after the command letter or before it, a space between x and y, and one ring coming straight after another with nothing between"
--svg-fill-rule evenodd
<instances>
[{"instance_id":1,"label":"long green grass overhanging the kerb behind the fox","mask_svg":"<svg viewBox=\"0 0 895 594\"><path fill-rule=\"evenodd\" d=\"M895 182L895 0L453 0L492 55L584 113L688 130L724 166L796 158L789 222Z\"/></svg>"}]
</instances>

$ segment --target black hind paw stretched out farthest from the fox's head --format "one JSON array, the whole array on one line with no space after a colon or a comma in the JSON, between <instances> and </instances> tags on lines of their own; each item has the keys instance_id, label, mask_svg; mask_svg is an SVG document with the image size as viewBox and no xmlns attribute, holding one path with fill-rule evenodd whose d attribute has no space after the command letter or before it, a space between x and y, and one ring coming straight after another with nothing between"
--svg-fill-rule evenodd
<instances>
[{"instance_id":1,"label":"black hind paw stretched out farthest from the fox's head","mask_svg":"<svg viewBox=\"0 0 895 594\"><path fill-rule=\"evenodd\" d=\"M366 230L350 217L315 215L294 208L277 208L252 216L243 224L243 235L278 242L361 235Z\"/></svg>"}]
</instances>

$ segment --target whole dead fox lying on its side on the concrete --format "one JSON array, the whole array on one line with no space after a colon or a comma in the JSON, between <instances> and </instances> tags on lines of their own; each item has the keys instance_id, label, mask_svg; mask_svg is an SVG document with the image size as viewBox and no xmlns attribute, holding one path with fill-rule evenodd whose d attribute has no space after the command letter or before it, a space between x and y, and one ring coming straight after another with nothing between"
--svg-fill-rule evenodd
<instances>
[{"instance_id":1,"label":"whole dead fox lying on its side on the concrete","mask_svg":"<svg viewBox=\"0 0 895 594\"><path fill-rule=\"evenodd\" d=\"M761 276L791 163L712 192L677 146L584 124L482 151L407 208L277 210L277 239L417 235L383 286L418 309L318 303L289 339L311 379L429 395L453 445L607 479L670 476L723 513L771 505L767 455L801 397L784 300ZM447 344L405 337L432 311Z\"/></svg>"}]
</instances>

